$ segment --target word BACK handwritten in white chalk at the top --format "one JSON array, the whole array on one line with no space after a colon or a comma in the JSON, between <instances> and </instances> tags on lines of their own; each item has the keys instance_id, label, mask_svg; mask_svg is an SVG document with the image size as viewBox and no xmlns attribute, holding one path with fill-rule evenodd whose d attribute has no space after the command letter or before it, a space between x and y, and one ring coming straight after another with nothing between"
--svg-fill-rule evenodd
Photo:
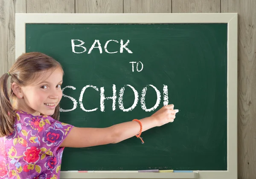
<instances>
[{"instance_id":1,"label":"word BACK handwritten in white chalk at the top","mask_svg":"<svg viewBox=\"0 0 256 179\"><path fill-rule=\"evenodd\" d=\"M75 44L75 42L78 41L80 42L80 44ZM113 51L113 52L110 52L108 51L108 43L110 43L111 41L115 42L115 43L119 43L117 40L108 40L105 45L104 45L104 49L105 49L105 52L107 52L108 54L115 54L115 53L118 53L118 51ZM128 51L129 54L132 54L133 52L127 48L127 45L129 44L130 40L127 40L127 42L124 44L124 41L123 40L120 40L120 49L119 49L119 52L120 53L123 53L124 49L126 51ZM95 46L97 44L97 46ZM72 45L72 51L76 54L81 54L81 53L84 53L87 51L87 48L84 47L84 41L82 40L79 40L79 39L72 39L71 40L71 45ZM76 48L76 49L75 49ZM80 49L80 51L77 50L77 48ZM99 53L102 54L102 46L101 46L101 43L99 42L99 40L95 40L94 43L91 45L89 51L88 51L88 54L90 54L94 48L98 48L99 49ZM81 51L83 50L83 51Z\"/></svg>"}]
</instances>

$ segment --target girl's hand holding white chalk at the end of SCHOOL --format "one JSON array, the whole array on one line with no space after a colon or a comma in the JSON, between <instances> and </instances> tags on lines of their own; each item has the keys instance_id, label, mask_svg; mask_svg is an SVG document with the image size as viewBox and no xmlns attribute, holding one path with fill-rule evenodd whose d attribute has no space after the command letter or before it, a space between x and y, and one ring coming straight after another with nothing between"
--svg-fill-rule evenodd
<instances>
[{"instance_id":1,"label":"girl's hand holding white chalk at the end of SCHOOL","mask_svg":"<svg viewBox=\"0 0 256 179\"><path fill-rule=\"evenodd\" d=\"M173 109L174 105L163 106L160 110L155 112L150 118L154 119L157 122L157 126L165 125L169 122L173 122L175 115L179 110Z\"/></svg>"}]
</instances>

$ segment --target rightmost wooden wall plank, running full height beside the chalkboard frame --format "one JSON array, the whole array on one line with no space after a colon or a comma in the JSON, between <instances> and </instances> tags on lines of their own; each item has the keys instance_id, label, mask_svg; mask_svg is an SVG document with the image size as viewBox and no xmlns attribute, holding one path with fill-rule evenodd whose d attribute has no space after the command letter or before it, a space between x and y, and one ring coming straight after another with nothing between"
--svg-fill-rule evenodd
<instances>
[{"instance_id":1,"label":"rightmost wooden wall plank, running full height beside the chalkboard frame","mask_svg":"<svg viewBox=\"0 0 256 179\"><path fill-rule=\"evenodd\" d=\"M256 1L221 0L238 12L238 178L256 178Z\"/></svg>"}]
</instances>

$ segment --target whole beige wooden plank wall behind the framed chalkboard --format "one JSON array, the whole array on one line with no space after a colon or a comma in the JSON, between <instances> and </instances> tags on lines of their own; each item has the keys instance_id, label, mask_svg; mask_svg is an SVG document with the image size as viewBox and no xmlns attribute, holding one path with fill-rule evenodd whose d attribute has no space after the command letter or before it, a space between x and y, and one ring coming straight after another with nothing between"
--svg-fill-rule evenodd
<instances>
[{"instance_id":1,"label":"whole beige wooden plank wall behind the framed chalkboard","mask_svg":"<svg viewBox=\"0 0 256 179\"><path fill-rule=\"evenodd\" d=\"M238 12L238 176L256 179L255 9L256 0L0 0L0 75L15 62L15 13Z\"/></svg>"}]
</instances>

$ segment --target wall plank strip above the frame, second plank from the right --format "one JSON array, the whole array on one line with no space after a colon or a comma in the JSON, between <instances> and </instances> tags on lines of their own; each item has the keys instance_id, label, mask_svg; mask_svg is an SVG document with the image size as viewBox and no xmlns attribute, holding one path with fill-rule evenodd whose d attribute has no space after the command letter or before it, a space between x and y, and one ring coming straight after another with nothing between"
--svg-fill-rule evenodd
<instances>
[{"instance_id":1,"label":"wall plank strip above the frame, second plank from the right","mask_svg":"<svg viewBox=\"0 0 256 179\"><path fill-rule=\"evenodd\" d=\"M221 12L221 0L172 0L172 13Z\"/></svg>"}]
</instances>

